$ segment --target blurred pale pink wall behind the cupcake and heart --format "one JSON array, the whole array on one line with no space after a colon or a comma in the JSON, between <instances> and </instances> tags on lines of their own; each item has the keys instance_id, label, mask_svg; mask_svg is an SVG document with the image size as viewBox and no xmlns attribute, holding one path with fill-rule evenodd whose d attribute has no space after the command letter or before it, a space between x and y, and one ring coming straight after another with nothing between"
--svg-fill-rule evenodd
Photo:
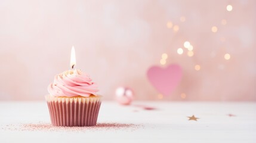
<instances>
[{"instance_id":1,"label":"blurred pale pink wall behind the cupcake and heart","mask_svg":"<svg viewBox=\"0 0 256 143\"><path fill-rule=\"evenodd\" d=\"M74 45L76 67L91 75L105 100L124 85L137 100L256 101L255 5L253 0L1 0L0 100L44 100L54 75L69 69ZM179 30L168 29L168 21ZM193 57L185 41L192 43ZM178 48L184 53L177 54ZM166 65L180 64L184 75L169 97L159 99L146 72L161 66L163 53Z\"/></svg>"}]
</instances>

